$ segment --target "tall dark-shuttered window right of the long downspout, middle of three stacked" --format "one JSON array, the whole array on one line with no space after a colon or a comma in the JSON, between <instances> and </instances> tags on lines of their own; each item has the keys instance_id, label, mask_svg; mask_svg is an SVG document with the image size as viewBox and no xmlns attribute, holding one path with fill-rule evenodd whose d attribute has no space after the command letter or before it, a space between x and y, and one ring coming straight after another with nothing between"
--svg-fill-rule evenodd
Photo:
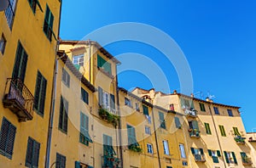
<instances>
[{"instance_id":1,"label":"tall dark-shuttered window right of the long downspout, middle of three stacked","mask_svg":"<svg viewBox=\"0 0 256 168\"><path fill-rule=\"evenodd\" d=\"M67 114L68 114L68 102L65 98L61 96L59 129L64 133L67 133L67 120L68 120Z\"/></svg>"}]
</instances>

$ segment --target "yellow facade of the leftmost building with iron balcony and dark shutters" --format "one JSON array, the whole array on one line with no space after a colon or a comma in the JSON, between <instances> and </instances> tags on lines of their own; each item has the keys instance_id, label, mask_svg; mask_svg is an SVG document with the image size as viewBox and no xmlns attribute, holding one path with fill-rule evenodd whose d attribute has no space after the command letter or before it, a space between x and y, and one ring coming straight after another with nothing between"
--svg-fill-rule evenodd
<instances>
[{"instance_id":1,"label":"yellow facade of the leftmost building with iron balcony and dark shutters","mask_svg":"<svg viewBox=\"0 0 256 168\"><path fill-rule=\"evenodd\" d=\"M0 12L0 167L46 166L60 14L58 0Z\"/></svg>"}]
</instances>

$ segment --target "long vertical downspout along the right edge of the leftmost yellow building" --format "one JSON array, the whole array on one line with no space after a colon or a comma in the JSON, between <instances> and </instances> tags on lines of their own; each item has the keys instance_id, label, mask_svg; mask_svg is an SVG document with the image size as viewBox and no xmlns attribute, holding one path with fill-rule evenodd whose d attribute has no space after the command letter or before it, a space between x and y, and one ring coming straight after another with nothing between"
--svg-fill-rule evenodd
<instances>
[{"instance_id":1,"label":"long vertical downspout along the right edge of the leftmost yellow building","mask_svg":"<svg viewBox=\"0 0 256 168\"><path fill-rule=\"evenodd\" d=\"M49 168L49 155L50 155L50 146L51 146L51 135L52 135L52 127L55 113L55 96L56 96L56 78L58 73L58 59L57 52L60 46L60 30L61 30L61 9L62 9L62 1L60 1L60 13L59 13L59 26L58 26L58 40L56 42L55 48L55 65L54 65L54 74L53 74L53 82L52 82L52 90L51 90L51 104L49 110L49 126L48 126L48 135L47 135L47 143L46 143L46 154L45 154L45 167Z\"/></svg>"}]
</instances>

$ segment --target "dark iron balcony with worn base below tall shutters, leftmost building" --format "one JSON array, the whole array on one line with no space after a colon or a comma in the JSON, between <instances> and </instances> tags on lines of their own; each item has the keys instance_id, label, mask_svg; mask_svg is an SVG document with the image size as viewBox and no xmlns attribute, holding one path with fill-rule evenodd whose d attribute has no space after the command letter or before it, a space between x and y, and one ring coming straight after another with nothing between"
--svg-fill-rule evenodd
<instances>
[{"instance_id":1,"label":"dark iron balcony with worn base below tall shutters, leftmost building","mask_svg":"<svg viewBox=\"0 0 256 168\"><path fill-rule=\"evenodd\" d=\"M8 78L5 86L3 106L9 108L19 121L32 120L33 118L32 93L20 79Z\"/></svg>"}]
</instances>

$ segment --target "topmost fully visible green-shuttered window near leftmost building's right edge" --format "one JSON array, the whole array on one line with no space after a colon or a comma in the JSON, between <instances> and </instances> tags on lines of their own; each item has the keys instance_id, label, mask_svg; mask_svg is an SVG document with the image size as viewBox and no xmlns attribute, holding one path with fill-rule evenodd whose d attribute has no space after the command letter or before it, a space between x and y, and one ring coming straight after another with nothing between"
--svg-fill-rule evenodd
<instances>
[{"instance_id":1,"label":"topmost fully visible green-shuttered window near leftmost building's right edge","mask_svg":"<svg viewBox=\"0 0 256 168\"><path fill-rule=\"evenodd\" d=\"M51 13L48 5L46 4L46 12L44 17L44 34L47 36L50 42L51 42L51 37L53 35L53 22L54 22L54 15Z\"/></svg>"}]
</instances>

